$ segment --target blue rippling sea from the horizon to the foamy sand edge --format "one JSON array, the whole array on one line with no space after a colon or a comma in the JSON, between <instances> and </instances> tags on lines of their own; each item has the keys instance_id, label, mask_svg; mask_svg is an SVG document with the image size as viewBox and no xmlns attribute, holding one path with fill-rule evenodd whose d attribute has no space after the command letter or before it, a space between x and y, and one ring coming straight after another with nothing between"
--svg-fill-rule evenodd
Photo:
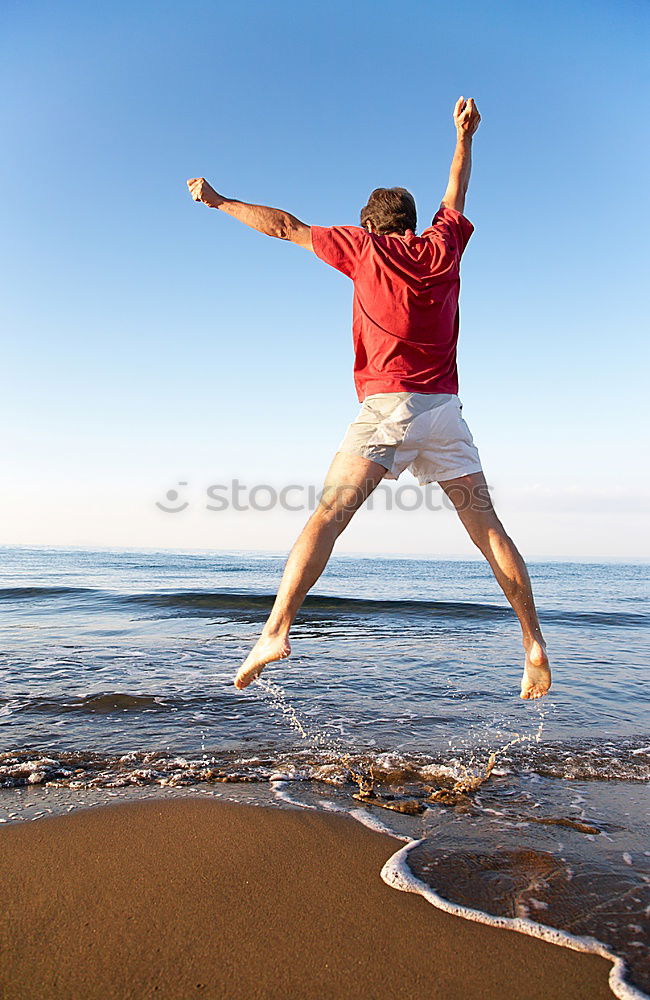
<instances>
[{"instance_id":1,"label":"blue rippling sea from the horizon to the foamy sand edge","mask_svg":"<svg viewBox=\"0 0 650 1000\"><path fill-rule=\"evenodd\" d=\"M345 812L398 838L396 890L650 996L650 566L530 564L554 683L525 702L479 561L335 556L291 658L238 692L283 556L0 551L0 823L188 794Z\"/></svg>"}]
</instances>

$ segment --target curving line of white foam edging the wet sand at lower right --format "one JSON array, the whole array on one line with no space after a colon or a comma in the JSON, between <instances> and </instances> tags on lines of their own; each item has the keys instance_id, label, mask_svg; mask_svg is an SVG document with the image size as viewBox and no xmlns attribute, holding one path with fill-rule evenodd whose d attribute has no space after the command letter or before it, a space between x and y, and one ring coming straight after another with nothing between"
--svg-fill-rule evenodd
<instances>
[{"instance_id":1,"label":"curving line of white foam edging the wet sand at lower right","mask_svg":"<svg viewBox=\"0 0 650 1000\"><path fill-rule=\"evenodd\" d=\"M648 1000L648 996L638 990L631 983L625 980L625 963L617 955L613 955L607 947L600 941L591 937L575 937L566 931L557 930L555 927L545 927L534 920L525 917L496 917L482 910L473 910L459 903L451 903L448 899L443 899L425 882L416 878L408 866L408 853L422 844L422 840L412 840L405 847L400 848L392 857L388 859L381 870L381 877L386 885L401 892L416 892L424 896L427 902L431 903L439 910L452 913L454 916L463 917L465 920L474 920L479 924L488 924L492 927L502 927L507 930L519 931L521 934L528 934L530 937L542 938L552 944L561 945L564 948L571 948L573 951L586 951L595 955L602 955L613 963L609 974L609 986L615 997L619 1000Z\"/></svg>"}]
</instances>

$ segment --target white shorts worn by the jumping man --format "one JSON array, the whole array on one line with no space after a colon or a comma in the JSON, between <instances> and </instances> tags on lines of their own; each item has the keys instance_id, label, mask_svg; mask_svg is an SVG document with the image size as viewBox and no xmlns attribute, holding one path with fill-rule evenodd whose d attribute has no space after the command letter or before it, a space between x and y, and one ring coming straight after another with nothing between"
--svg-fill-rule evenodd
<instances>
[{"instance_id":1,"label":"white shorts worn by the jumping man","mask_svg":"<svg viewBox=\"0 0 650 1000\"><path fill-rule=\"evenodd\" d=\"M367 396L338 447L387 469L409 469L420 486L481 471L463 404L448 393L379 392Z\"/></svg>"}]
</instances>

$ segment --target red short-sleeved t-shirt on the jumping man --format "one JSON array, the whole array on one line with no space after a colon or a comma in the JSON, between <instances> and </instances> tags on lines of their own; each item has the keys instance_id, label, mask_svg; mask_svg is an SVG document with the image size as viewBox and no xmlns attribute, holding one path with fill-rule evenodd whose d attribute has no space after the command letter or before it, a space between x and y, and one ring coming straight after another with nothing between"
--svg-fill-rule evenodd
<instances>
[{"instance_id":1,"label":"red short-sleeved t-shirt on the jumping man","mask_svg":"<svg viewBox=\"0 0 650 1000\"><path fill-rule=\"evenodd\" d=\"M354 281L359 400L375 392L458 392L460 258L473 231L453 208L441 208L421 236L311 227L314 252Z\"/></svg>"}]
</instances>

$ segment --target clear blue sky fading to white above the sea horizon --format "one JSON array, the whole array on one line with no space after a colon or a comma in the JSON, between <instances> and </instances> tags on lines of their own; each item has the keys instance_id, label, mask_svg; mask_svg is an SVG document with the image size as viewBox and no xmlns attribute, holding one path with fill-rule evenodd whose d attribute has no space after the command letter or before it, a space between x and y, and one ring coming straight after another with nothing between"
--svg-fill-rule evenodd
<instances>
[{"instance_id":1,"label":"clear blue sky fading to white above the sea horizon","mask_svg":"<svg viewBox=\"0 0 650 1000\"><path fill-rule=\"evenodd\" d=\"M320 483L352 285L185 180L319 225L403 185L424 228L463 94L460 394L497 509L531 557L650 555L649 29L635 0L4 0L0 542L285 550L304 512L206 489ZM473 552L382 505L339 549Z\"/></svg>"}]
</instances>

